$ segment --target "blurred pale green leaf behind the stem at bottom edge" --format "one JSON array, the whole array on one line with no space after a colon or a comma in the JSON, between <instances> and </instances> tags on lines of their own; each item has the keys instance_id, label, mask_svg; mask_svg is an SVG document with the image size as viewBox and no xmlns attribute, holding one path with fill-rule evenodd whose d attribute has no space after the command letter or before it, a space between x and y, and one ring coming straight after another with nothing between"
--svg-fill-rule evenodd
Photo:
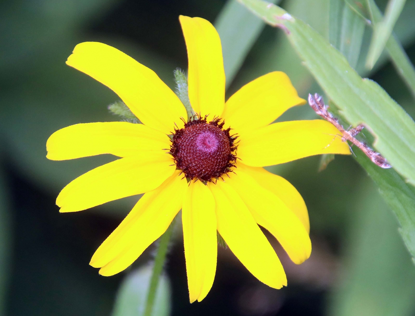
<instances>
[{"instance_id":1,"label":"blurred pale green leaf behind the stem at bottom edge","mask_svg":"<svg viewBox=\"0 0 415 316\"><path fill-rule=\"evenodd\" d=\"M152 271L153 266L147 265L127 275L118 290L112 316L144 315ZM151 315L168 316L170 313L170 282L165 274L161 274Z\"/></svg>"}]
</instances>

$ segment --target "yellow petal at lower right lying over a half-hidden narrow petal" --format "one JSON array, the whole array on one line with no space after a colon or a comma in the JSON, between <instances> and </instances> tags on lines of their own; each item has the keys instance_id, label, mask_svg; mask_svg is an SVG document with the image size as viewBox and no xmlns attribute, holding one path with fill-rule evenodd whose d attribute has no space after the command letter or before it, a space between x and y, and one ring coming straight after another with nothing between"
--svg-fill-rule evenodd
<instances>
[{"instance_id":1,"label":"yellow petal at lower right lying over a half-hidden narrow petal","mask_svg":"<svg viewBox=\"0 0 415 316\"><path fill-rule=\"evenodd\" d=\"M296 264L310 257L311 241L300 219L275 194L264 189L244 168L234 170L225 181L238 192L256 223L277 238Z\"/></svg>"}]
</instances>

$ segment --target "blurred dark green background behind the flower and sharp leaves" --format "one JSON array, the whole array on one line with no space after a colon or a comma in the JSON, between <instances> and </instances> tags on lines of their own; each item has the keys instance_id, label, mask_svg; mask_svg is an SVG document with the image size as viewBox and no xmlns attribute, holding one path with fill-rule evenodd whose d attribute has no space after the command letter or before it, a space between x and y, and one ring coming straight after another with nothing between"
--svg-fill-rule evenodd
<instances>
[{"instance_id":1,"label":"blurred dark green background behind the flower and sharp leaves","mask_svg":"<svg viewBox=\"0 0 415 316\"><path fill-rule=\"evenodd\" d=\"M328 39L331 3L284 0L280 5ZM376 3L383 12L387 1ZM229 12L234 12L234 20ZM224 47L227 96L274 70L285 71L303 98L321 93L283 31L264 26L232 0L3 0L0 315L141 315L154 246L113 277L101 277L88 265L139 196L60 214L54 201L63 186L114 157L54 162L46 159L45 144L51 133L71 124L118 120L107 110L119 100L115 93L66 66L76 44L100 41L117 47L173 88L173 70L187 67L180 14L203 17L217 27ZM407 0L394 29L413 62L414 17L415 0ZM364 69L371 28L362 23L361 53L354 68L377 81L414 118L413 96L388 56L383 55L372 71ZM249 45L238 46L232 29L246 32ZM235 50L240 54L233 54ZM279 120L314 118L304 105ZM378 189L352 157L336 156L320 172L319 162L320 157L309 157L269 167L298 189L310 213L313 250L303 265L291 263L270 238L286 269L288 287L266 287L229 249L220 248L211 292L201 303L190 305L178 229L155 314L415 315L415 266Z\"/></svg>"}]
</instances>

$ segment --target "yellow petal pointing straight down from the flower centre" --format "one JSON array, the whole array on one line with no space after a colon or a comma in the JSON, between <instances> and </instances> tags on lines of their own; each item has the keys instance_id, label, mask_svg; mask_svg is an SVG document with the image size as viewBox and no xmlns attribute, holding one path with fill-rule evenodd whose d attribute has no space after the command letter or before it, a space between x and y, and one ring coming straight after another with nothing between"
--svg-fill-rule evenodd
<instances>
[{"instance_id":1,"label":"yellow petal pointing straight down from the flower centre","mask_svg":"<svg viewBox=\"0 0 415 316\"><path fill-rule=\"evenodd\" d=\"M215 199L201 181L188 186L182 223L189 298L193 303L203 300L210 291L217 261Z\"/></svg>"}]
</instances>

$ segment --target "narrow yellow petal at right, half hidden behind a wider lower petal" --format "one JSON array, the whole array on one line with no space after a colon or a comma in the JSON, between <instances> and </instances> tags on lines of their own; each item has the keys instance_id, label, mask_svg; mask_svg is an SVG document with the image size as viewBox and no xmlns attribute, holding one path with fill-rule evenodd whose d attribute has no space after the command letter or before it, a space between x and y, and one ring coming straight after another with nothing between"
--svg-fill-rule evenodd
<instances>
[{"instance_id":1,"label":"narrow yellow petal at right, half hidden behind a wider lower petal","mask_svg":"<svg viewBox=\"0 0 415 316\"><path fill-rule=\"evenodd\" d=\"M239 171L243 171L249 174L260 186L278 196L300 219L307 233L310 233L307 206L305 206L300 193L298 193L297 189L290 182L281 176L266 171L262 167L249 167L241 162L237 163L237 167L235 172L239 173Z\"/></svg>"}]
</instances>

